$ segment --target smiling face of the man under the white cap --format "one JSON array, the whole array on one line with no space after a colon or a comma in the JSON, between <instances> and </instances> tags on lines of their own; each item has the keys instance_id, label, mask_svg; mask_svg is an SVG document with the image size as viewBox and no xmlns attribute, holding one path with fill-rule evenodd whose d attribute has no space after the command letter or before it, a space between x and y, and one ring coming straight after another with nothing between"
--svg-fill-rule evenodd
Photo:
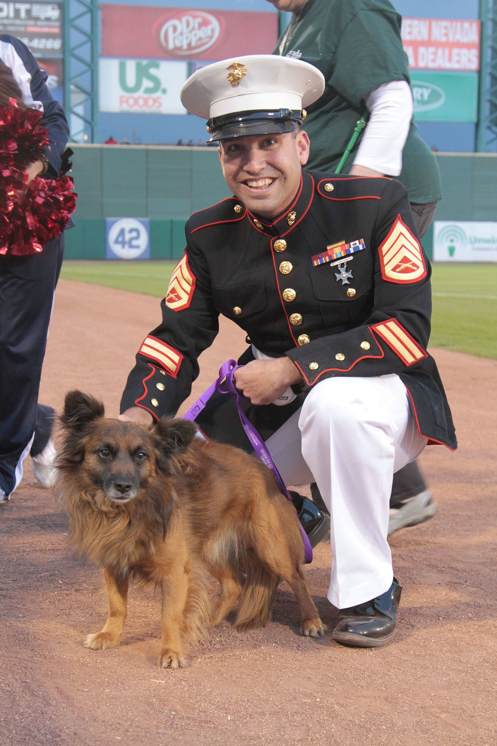
<instances>
[{"instance_id":1,"label":"smiling face of the man under the white cap","mask_svg":"<svg viewBox=\"0 0 497 746\"><path fill-rule=\"evenodd\" d=\"M226 183L252 213L271 220L291 204L307 163L303 130L221 140L219 158Z\"/></svg>"}]
</instances>

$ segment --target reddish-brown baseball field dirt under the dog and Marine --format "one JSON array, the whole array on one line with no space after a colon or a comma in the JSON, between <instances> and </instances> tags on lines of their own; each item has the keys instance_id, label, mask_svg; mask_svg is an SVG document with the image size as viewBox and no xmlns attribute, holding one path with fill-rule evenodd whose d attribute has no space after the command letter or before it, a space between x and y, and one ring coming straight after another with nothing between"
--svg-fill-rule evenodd
<instances>
[{"instance_id":1,"label":"reddish-brown baseball field dirt under the dog and Marine","mask_svg":"<svg viewBox=\"0 0 497 746\"><path fill-rule=\"evenodd\" d=\"M115 416L157 319L156 298L61 280L40 401L60 410L65 392L79 388ZM244 346L236 327L222 325L190 401ZM156 665L153 589L130 589L118 648L86 650L84 636L107 614L103 580L73 556L63 506L37 486L27 459L0 506L1 745L495 745L497 361L433 352L460 448L421 457L438 512L391 537L404 590L384 648L344 648L329 631L303 639L283 584L268 627L236 632L224 622L188 648L188 668ZM326 600L330 562L323 541L306 568L329 630L338 615Z\"/></svg>"}]
</instances>

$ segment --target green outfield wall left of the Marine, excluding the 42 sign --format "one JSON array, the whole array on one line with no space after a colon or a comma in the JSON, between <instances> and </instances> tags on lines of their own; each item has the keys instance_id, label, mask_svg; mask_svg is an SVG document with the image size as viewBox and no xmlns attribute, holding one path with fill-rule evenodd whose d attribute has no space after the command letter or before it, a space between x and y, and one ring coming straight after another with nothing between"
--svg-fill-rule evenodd
<instances>
[{"instance_id":1,"label":"green outfield wall left of the Marine, excluding the 42 sign","mask_svg":"<svg viewBox=\"0 0 497 746\"><path fill-rule=\"evenodd\" d=\"M67 259L104 259L106 218L150 219L152 259L178 259L191 213L229 196L217 148L72 145Z\"/></svg>"}]
</instances>

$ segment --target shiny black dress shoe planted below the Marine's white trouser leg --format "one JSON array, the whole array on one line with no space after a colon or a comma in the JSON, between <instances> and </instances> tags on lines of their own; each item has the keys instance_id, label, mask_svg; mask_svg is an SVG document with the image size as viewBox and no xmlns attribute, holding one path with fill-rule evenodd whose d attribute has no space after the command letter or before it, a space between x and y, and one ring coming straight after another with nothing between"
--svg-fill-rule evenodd
<instances>
[{"instance_id":1,"label":"shiny black dress shoe planted below the Marine's white trouser leg","mask_svg":"<svg viewBox=\"0 0 497 746\"><path fill-rule=\"evenodd\" d=\"M377 648L392 639L402 586L393 578L390 588L364 604L341 609L332 638L342 645Z\"/></svg>"}]
</instances>

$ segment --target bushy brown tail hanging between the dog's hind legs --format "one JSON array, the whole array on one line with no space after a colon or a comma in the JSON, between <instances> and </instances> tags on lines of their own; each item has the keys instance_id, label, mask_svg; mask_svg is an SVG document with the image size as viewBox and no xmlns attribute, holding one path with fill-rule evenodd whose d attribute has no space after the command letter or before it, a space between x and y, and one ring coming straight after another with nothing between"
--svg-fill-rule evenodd
<instances>
[{"instance_id":1,"label":"bushy brown tail hanging between the dog's hind legs","mask_svg":"<svg viewBox=\"0 0 497 746\"><path fill-rule=\"evenodd\" d=\"M247 557L246 578L238 604L237 629L265 627L270 621L279 577L266 568L259 558Z\"/></svg>"}]
</instances>

